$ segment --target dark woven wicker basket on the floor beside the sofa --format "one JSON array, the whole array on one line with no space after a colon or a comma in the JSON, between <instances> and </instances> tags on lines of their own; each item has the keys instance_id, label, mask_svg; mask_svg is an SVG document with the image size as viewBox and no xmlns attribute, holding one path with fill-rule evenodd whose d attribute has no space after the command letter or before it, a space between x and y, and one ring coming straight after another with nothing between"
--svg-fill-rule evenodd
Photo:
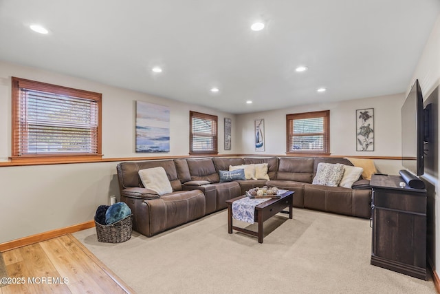
<instances>
[{"instance_id":1,"label":"dark woven wicker basket on the floor beside the sofa","mask_svg":"<svg viewBox=\"0 0 440 294\"><path fill-rule=\"evenodd\" d=\"M125 242L131 238L131 231L133 226L131 222L132 214L123 218L122 220L113 224L102 225L96 222L96 235L98 235L99 242L105 243L120 243Z\"/></svg>"}]
</instances>

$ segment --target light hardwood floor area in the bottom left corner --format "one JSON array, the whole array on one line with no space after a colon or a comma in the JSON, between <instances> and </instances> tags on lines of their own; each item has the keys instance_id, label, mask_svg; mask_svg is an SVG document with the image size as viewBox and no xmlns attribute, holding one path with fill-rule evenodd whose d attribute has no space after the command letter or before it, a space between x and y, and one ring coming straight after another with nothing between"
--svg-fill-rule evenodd
<instances>
[{"instance_id":1,"label":"light hardwood floor area in the bottom left corner","mask_svg":"<svg viewBox=\"0 0 440 294\"><path fill-rule=\"evenodd\" d=\"M3 252L9 293L135 293L71 234ZM21 282L21 284L19 284Z\"/></svg>"}]
</instances>

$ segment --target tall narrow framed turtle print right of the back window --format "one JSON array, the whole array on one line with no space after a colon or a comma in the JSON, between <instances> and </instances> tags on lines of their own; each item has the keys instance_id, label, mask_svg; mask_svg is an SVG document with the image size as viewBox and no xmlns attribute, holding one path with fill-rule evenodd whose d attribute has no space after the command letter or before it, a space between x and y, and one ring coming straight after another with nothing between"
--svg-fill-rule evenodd
<instances>
[{"instance_id":1,"label":"tall narrow framed turtle print right of the back window","mask_svg":"<svg viewBox=\"0 0 440 294\"><path fill-rule=\"evenodd\" d=\"M374 151L374 108L356 110L356 151Z\"/></svg>"}]
</instances>

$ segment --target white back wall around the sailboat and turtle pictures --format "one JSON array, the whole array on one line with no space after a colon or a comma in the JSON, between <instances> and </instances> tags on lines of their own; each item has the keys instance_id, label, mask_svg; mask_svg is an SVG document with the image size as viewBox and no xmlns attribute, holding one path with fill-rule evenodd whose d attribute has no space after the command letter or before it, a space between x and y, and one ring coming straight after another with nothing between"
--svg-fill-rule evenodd
<instances>
[{"instance_id":1,"label":"white back wall around the sailboat and turtle pictures","mask_svg":"<svg viewBox=\"0 0 440 294\"><path fill-rule=\"evenodd\" d=\"M322 96L325 98L325 96ZM401 156L401 105L404 94L320 103L237 117L237 136L244 154L286 153L286 114L330 110L330 152L336 156ZM356 151L356 109L374 108L375 150ZM265 151L254 151L254 120L265 120ZM375 160L382 173L398 174L399 160Z\"/></svg>"}]
</instances>

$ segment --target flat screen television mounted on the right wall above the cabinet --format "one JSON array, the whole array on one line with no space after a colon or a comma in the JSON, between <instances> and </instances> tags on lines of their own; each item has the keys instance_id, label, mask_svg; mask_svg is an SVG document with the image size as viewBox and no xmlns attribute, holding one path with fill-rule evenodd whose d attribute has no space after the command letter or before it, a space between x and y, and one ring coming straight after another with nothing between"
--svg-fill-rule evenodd
<instances>
[{"instance_id":1,"label":"flat screen television mounted on the right wall above the cabinet","mask_svg":"<svg viewBox=\"0 0 440 294\"><path fill-rule=\"evenodd\" d=\"M416 80L401 107L401 163L416 176L423 174L424 134L423 96Z\"/></svg>"}]
</instances>

